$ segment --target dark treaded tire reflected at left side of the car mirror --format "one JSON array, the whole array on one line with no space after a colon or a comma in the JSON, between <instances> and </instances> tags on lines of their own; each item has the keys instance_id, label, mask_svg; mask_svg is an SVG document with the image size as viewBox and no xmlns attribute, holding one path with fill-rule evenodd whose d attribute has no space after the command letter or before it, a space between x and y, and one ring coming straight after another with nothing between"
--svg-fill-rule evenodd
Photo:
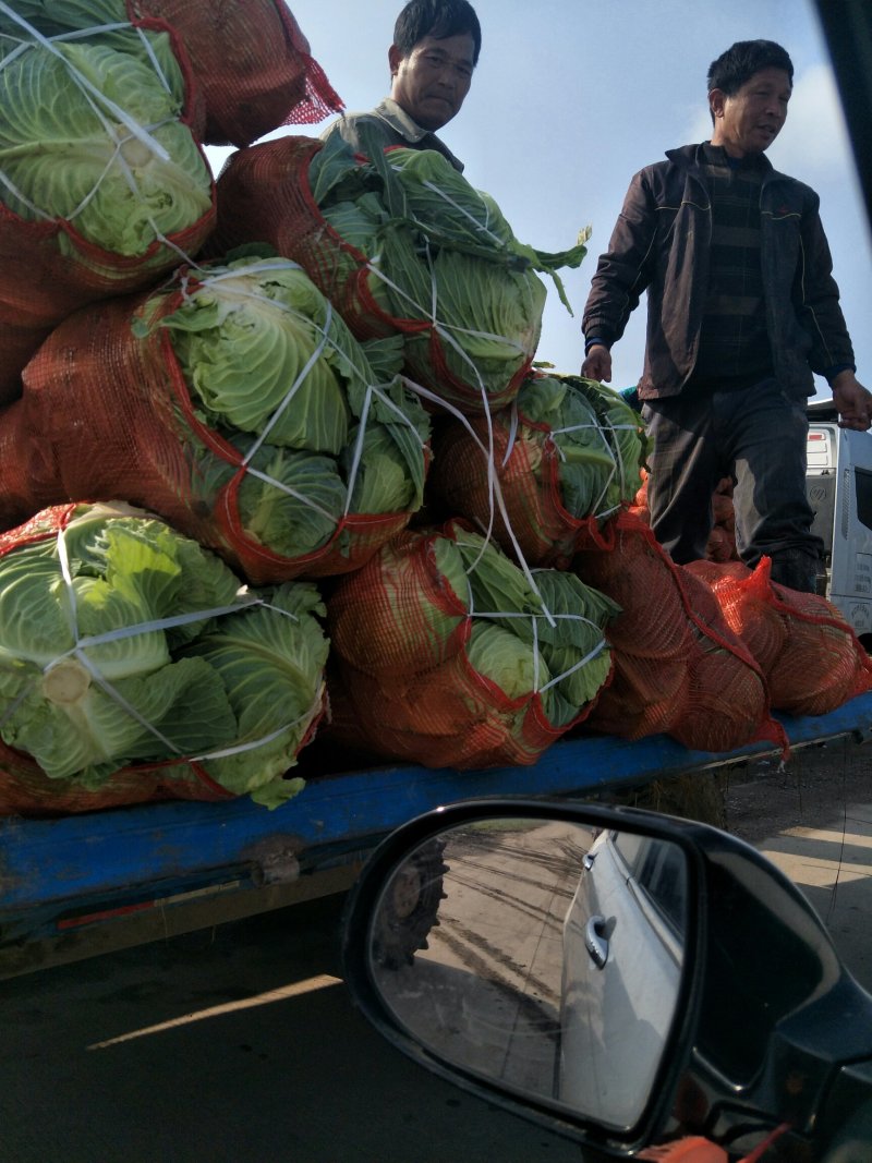
<instances>
[{"instance_id":1,"label":"dark treaded tire reflected at left side of the car mirror","mask_svg":"<svg viewBox=\"0 0 872 1163\"><path fill-rule=\"evenodd\" d=\"M430 930L439 923L443 840L421 844L396 870L379 904L373 925L372 956L381 969L412 965L419 949L427 949Z\"/></svg>"}]
</instances>

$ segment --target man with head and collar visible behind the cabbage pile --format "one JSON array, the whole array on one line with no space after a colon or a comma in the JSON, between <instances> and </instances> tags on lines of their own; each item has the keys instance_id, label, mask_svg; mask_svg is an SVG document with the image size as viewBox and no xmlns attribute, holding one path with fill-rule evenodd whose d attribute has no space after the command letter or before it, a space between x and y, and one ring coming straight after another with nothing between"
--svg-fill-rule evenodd
<instances>
[{"instance_id":1,"label":"man with head and collar visible behind the cabbage pile","mask_svg":"<svg viewBox=\"0 0 872 1163\"><path fill-rule=\"evenodd\" d=\"M345 114L321 136L338 134L362 152L365 144L433 149L462 171L436 130L460 112L480 50L481 29L467 0L410 0L387 53L391 97L369 113Z\"/></svg>"}]
</instances>

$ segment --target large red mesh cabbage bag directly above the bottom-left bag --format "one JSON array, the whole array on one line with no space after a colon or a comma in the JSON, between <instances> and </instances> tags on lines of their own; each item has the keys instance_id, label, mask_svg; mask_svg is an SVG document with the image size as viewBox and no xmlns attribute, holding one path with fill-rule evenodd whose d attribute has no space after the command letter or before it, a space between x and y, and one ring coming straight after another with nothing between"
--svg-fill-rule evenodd
<instances>
[{"instance_id":1,"label":"large red mesh cabbage bag directly above the bottom-left bag","mask_svg":"<svg viewBox=\"0 0 872 1163\"><path fill-rule=\"evenodd\" d=\"M429 420L300 267L238 258L66 319L0 423L0 520L122 499L249 582L362 565L420 506Z\"/></svg>"}]
</instances>

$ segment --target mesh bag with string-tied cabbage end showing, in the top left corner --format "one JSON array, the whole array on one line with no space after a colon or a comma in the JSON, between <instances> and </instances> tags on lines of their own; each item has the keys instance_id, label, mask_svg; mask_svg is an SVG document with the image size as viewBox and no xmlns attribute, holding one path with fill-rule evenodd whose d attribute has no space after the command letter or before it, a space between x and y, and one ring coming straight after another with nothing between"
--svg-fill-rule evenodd
<instances>
[{"instance_id":1,"label":"mesh bag with string-tied cabbage end showing, in the top left corner","mask_svg":"<svg viewBox=\"0 0 872 1163\"><path fill-rule=\"evenodd\" d=\"M60 320L148 286L215 224L174 34L145 21L65 36L45 5L16 9L0 10L0 401Z\"/></svg>"}]
</instances>

